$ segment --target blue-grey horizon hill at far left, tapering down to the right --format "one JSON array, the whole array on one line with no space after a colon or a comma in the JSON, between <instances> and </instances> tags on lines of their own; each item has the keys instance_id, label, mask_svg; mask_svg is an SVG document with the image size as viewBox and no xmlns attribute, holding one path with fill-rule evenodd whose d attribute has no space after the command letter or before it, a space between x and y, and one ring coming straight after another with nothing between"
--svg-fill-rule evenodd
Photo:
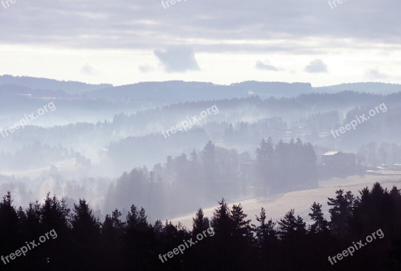
<instances>
[{"instance_id":1,"label":"blue-grey horizon hill at far left, tapering down to the right","mask_svg":"<svg viewBox=\"0 0 401 271\"><path fill-rule=\"evenodd\" d=\"M33 90L36 89L53 90L53 91L62 90L65 93L69 94L75 94L75 93L80 94L86 91L109 88L113 86L111 84L90 85L75 81L58 81L54 79L36 78L28 76L12 76L12 75L0 76L0 85L3 84L19 85L31 88Z\"/></svg>"}]
</instances>

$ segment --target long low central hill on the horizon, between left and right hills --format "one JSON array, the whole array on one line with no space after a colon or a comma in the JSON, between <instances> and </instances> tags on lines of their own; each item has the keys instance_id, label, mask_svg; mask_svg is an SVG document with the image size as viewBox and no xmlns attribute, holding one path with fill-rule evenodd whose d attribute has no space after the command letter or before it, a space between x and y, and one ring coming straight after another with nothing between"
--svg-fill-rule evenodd
<instances>
[{"instance_id":1,"label":"long low central hill on the horizon, between left and right hills","mask_svg":"<svg viewBox=\"0 0 401 271\"><path fill-rule=\"evenodd\" d=\"M295 96L312 92L310 83L256 82L216 85L205 82L142 82L85 93L88 97L117 99L159 99L170 102L220 100L258 95Z\"/></svg>"}]
</instances>

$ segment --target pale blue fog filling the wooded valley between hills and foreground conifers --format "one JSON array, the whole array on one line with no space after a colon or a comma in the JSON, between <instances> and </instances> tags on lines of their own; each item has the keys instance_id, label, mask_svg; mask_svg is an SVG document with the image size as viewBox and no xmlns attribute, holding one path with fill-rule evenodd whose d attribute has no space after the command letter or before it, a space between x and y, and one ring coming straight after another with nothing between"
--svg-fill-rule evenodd
<instances>
[{"instance_id":1,"label":"pale blue fog filling the wooded valley between hills and foreground conifers","mask_svg":"<svg viewBox=\"0 0 401 271\"><path fill-rule=\"evenodd\" d=\"M51 83L54 90L39 91ZM165 85L173 89L174 82ZM0 192L12 191L17 205L26 207L51 192L68 198L70 207L85 198L102 216L137 204L154 218L173 218L215 206L221 197L234 201L317 188L336 175L401 164L399 93L272 91L267 97L269 90L256 88L241 98L188 97L183 103L180 92L172 91L172 103L166 104L159 98L121 99L117 91L107 98L102 91L96 97L95 90L89 90L91 98L85 91L70 96L60 86L42 79L38 90L29 89L23 78L2 86ZM194 97L208 88L186 86ZM87 86L95 87L101 86ZM362 123L359 116L372 109L374 116ZM35 119L29 118L32 112ZM15 123L20 127L10 129ZM341 133L347 123L352 128ZM321 160L326 151L354 153L355 161L330 168ZM264 159L277 170L260 164ZM166 204L167 198L176 201Z\"/></svg>"}]
</instances>

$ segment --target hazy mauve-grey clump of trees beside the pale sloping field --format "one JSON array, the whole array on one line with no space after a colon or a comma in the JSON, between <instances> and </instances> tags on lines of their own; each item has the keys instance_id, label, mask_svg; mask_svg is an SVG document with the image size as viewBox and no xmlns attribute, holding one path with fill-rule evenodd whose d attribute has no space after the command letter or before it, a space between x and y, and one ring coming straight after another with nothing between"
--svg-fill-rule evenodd
<instances>
[{"instance_id":1,"label":"hazy mauve-grey clump of trees beside the pale sloping field","mask_svg":"<svg viewBox=\"0 0 401 271\"><path fill-rule=\"evenodd\" d=\"M299 138L277 144L271 138L263 139L256 156L252 160L247 152L216 147L212 141L199 153L193 150L189 158L183 153L174 158L169 155L163 165L157 163L150 171L141 167L124 172L110 186L105 209L123 208L135 198L159 217L212 205L221 195L234 199L317 187L316 155L311 144L303 144ZM249 167L241 169L244 162ZM250 193L250 186L256 190Z\"/></svg>"}]
</instances>

